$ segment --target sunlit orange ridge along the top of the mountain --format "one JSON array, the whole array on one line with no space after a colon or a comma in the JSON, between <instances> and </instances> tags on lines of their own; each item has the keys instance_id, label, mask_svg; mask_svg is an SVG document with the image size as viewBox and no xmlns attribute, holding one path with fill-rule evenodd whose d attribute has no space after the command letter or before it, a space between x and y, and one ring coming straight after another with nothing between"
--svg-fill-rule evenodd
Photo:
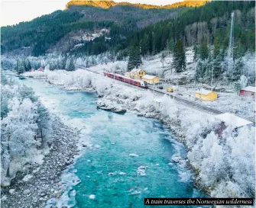
<instances>
[{"instance_id":1,"label":"sunlit orange ridge along the top of the mountain","mask_svg":"<svg viewBox=\"0 0 256 208\"><path fill-rule=\"evenodd\" d=\"M144 8L144 9L170 9L170 8L178 8L178 7L199 7L202 5L205 5L206 2L209 2L207 0L203 1L183 1L183 2L177 2L173 3L171 5L146 5L146 4L132 4L130 2L114 2L114 1L70 1L66 4L66 9L70 8L71 6L93 6L93 7L99 7L99 8L112 8L114 6L118 5L128 5L128 6L134 6L138 8Z\"/></svg>"}]
</instances>

